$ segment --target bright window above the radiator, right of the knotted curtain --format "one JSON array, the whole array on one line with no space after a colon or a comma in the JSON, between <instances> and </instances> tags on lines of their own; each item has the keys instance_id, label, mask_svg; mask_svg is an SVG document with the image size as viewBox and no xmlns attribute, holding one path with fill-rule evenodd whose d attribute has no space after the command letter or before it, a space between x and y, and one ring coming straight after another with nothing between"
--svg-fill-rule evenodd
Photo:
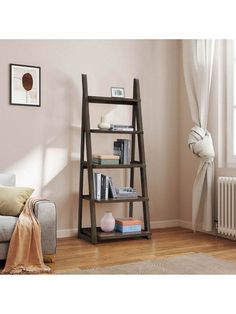
<instances>
[{"instance_id":1,"label":"bright window above the radiator, right of the knotted curtain","mask_svg":"<svg viewBox=\"0 0 236 314\"><path fill-rule=\"evenodd\" d=\"M228 40L227 56L227 166L236 167L236 41Z\"/></svg>"}]
</instances>

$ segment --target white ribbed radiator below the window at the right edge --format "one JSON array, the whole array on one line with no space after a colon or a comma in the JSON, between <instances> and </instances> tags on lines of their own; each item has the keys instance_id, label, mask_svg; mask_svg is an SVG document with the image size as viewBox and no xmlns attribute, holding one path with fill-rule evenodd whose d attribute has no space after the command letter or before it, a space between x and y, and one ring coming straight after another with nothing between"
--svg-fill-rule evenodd
<instances>
[{"instance_id":1,"label":"white ribbed radiator below the window at the right edge","mask_svg":"<svg viewBox=\"0 0 236 314\"><path fill-rule=\"evenodd\" d=\"M236 177L218 178L218 232L236 236Z\"/></svg>"}]
</instances>

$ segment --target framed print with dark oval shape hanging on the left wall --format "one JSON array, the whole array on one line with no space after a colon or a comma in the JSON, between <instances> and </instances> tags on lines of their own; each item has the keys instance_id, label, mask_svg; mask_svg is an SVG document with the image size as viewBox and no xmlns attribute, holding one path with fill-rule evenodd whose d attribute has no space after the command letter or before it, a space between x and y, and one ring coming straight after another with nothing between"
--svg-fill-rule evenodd
<instances>
[{"instance_id":1,"label":"framed print with dark oval shape hanging on the left wall","mask_svg":"<svg viewBox=\"0 0 236 314\"><path fill-rule=\"evenodd\" d=\"M10 104L41 106L41 68L10 64Z\"/></svg>"}]
</instances>

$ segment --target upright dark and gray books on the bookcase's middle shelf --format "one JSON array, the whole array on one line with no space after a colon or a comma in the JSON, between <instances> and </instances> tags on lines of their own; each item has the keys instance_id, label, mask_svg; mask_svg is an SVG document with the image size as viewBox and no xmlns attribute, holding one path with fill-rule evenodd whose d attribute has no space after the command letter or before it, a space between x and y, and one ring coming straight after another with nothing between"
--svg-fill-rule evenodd
<instances>
[{"instance_id":1,"label":"upright dark and gray books on the bookcase's middle shelf","mask_svg":"<svg viewBox=\"0 0 236 314\"><path fill-rule=\"evenodd\" d=\"M113 143L113 154L119 157L120 164L130 164L131 140L117 139Z\"/></svg>"}]
</instances>

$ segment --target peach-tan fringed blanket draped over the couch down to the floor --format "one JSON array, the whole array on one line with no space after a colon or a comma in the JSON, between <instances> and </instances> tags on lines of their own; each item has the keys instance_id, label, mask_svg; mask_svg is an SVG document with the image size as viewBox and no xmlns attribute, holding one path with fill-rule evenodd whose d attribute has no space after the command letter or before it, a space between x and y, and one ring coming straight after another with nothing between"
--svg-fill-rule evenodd
<instances>
[{"instance_id":1,"label":"peach-tan fringed blanket draped over the couch down to the floor","mask_svg":"<svg viewBox=\"0 0 236 314\"><path fill-rule=\"evenodd\" d=\"M33 208L38 201L29 198L13 231L3 274L50 273L44 264L41 247L41 228Z\"/></svg>"}]
</instances>

